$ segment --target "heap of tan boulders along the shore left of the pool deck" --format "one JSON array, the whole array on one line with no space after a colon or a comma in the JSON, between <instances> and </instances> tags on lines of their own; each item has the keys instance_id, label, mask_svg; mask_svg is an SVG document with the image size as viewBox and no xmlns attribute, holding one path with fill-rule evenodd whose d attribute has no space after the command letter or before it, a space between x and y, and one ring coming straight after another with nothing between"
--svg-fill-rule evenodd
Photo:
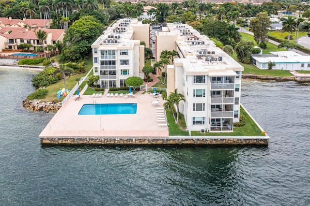
<instances>
[{"instance_id":1,"label":"heap of tan boulders along the shore left of the pool deck","mask_svg":"<svg viewBox=\"0 0 310 206\"><path fill-rule=\"evenodd\" d=\"M53 103L53 102L40 102L40 100L32 100L30 101L28 98L26 98L23 101L23 106L26 109L29 109L31 112L33 111L44 111L44 112L57 112L61 107L61 103Z\"/></svg>"}]
</instances>

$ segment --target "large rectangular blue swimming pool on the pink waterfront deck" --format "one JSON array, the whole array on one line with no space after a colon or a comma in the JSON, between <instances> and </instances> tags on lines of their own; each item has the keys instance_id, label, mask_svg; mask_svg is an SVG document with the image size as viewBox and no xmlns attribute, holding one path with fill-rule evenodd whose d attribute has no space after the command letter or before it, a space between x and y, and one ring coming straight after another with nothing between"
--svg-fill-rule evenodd
<instances>
[{"instance_id":1,"label":"large rectangular blue swimming pool on the pink waterfront deck","mask_svg":"<svg viewBox=\"0 0 310 206\"><path fill-rule=\"evenodd\" d=\"M83 104L78 115L130 115L137 114L137 103Z\"/></svg>"}]
</instances>

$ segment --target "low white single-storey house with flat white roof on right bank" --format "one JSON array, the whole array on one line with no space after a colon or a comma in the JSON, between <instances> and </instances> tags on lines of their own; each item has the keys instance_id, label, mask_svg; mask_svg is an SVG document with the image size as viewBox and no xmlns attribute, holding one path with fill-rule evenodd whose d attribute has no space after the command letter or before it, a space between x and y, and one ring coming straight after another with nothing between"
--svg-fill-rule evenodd
<instances>
[{"instance_id":1,"label":"low white single-storey house with flat white roof on right bank","mask_svg":"<svg viewBox=\"0 0 310 206\"><path fill-rule=\"evenodd\" d=\"M272 69L277 70L308 70L310 56L302 56L293 51L270 52L271 54L252 55L252 61L259 69L268 69L268 62L275 62Z\"/></svg>"}]
</instances>

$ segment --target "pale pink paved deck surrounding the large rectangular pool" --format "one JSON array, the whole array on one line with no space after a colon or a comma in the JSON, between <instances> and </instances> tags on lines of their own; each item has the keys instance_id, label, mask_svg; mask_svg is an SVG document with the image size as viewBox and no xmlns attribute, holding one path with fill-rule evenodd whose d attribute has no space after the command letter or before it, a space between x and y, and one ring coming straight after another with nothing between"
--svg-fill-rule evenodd
<instances>
[{"instance_id":1,"label":"pale pink paved deck surrounding the large rectangular pool","mask_svg":"<svg viewBox=\"0 0 310 206\"><path fill-rule=\"evenodd\" d=\"M80 100L73 97L55 114L39 135L42 137L169 137L167 126L158 126L156 108L164 101L159 97L159 105L153 95L141 94L136 97L102 97L82 95ZM90 103L137 103L138 111L134 115L78 115L83 104Z\"/></svg>"}]
</instances>

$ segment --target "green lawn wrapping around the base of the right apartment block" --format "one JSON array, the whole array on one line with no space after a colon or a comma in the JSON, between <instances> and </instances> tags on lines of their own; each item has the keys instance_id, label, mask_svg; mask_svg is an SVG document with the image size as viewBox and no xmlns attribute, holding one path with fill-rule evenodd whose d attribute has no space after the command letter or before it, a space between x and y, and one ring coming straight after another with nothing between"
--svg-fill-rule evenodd
<instances>
[{"instance_id":1,"label":"green lawn wrapping around the base of the right apartment block","mask_svg":"<svg viewBox=\"0 0 310 206\"><path fill-rule=\"evenodd\" d=\"M167 120L169 123L169 135L171 136L189 136L189 133L180 130L178 124L174 122L174 118L169 110L167 112ZM252 118L248 116L243 107L240 108L240 114L246 118L246 125L243 127L233 127L233 132L206 132L192 131L192 136L264 136L261 129L255 124Z\"/></svg>"}]
</instances>

